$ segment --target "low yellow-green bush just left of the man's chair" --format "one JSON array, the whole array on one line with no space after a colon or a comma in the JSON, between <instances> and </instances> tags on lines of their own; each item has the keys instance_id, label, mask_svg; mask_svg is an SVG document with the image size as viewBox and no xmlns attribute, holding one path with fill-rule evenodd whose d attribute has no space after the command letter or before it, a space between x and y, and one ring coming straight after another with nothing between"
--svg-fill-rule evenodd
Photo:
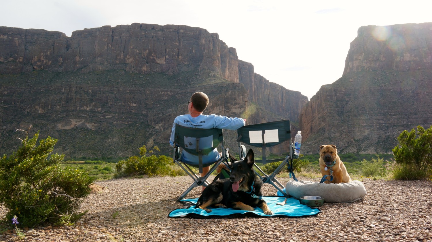
<instances>
[{"instance_id":1,"label":"low yellow-green bush just left of the man's chair","mask_svg":"<svg viewBox=\"0 0 432 242\"><path fill-rule=\"evenodd\" d=\"M157 146L153 147L149 153L153 154L155 151L159 151ZM127 160L119 161L116 164L117 174L115 177L175 175L170 166L172 162L172 158L165 155L148 155L146 146L143 146L140 148L139 156L129 157Z\"/></svg>"}]
</instances>

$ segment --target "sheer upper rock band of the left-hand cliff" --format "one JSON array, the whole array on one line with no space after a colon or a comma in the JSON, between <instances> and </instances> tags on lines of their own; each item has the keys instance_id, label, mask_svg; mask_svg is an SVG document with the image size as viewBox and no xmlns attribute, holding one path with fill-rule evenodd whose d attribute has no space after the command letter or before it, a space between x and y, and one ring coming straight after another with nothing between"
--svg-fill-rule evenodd
<instances>
[{"instance_id":1,"label":"sheer upper rock band of the left-hand cliff","mask_svg":"<svg viewBox=\"0 0 432 242\"><path fill-rule=\"evenodd\" d=\"M0 28L0 72L32 70L168 74L210 69L238 82L234 48L202 28L134 23L74 31Z\"/></svg>"}]
</instances>

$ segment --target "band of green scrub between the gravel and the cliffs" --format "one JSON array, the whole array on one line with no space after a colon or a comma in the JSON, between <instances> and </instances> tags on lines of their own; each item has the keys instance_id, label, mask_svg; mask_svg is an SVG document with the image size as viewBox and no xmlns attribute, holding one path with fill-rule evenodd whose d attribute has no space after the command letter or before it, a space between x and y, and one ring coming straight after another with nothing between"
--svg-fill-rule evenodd
<instances>
[{"instance_id":1,"label":"band of green scrub between the gravel and the cliffs","mask_svg":"<svg viewBox=\"0 0 432 242\"><path fill-rule=\"evenodd\" d=\"M432 143L432 126L428 130L417 127L411 132L404 131L398 140L399 146L395 147L394 152L398 155L395 161L393 154L339 154L340 159L346 166L348 173L354 178L373 177L376 178L393 178L393 179L432 179L430 159L431 146L425 146L426 143ZM416 138L416 134L417 137ZM127 159L104 157L101 159L84 160L84 161L65 161L62 167L72 167L86 171L89 175L97 180L112 179L114 177L124 176L142 176L142 175L185 175L185 173L172 163L172 158L165 155L156 156L154 152L159 149L154 147L147 152L145 146L140 148L140 156L133 156ZM269 154L268 159L282 158L284 155ZM415 156L415 158L413 158ZM85 158L85 157L82 157ZM237 156L238 158L238 156ZM259 155L257 159L261 159ZM278 167L280 162L257 165L266 173L271 173ZM293 161L294 172L297 175L306 177L320 177L319 154L303 155ZM406 169L409 166L410 169ZM196 170L192 168L192 170ZM284 170L283 172L286 172ZM214 172L216 174L216 172ZM421 176L419 176L419 174ZM286 174L287 176L287 174Z\"/></svg>"}]
</instances>

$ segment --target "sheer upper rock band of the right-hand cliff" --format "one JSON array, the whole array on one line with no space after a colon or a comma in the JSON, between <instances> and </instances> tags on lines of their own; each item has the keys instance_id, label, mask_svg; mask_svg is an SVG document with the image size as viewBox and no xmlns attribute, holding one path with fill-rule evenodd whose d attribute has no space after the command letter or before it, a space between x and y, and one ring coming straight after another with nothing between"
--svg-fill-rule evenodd
<instances>
[{"instance_id":1,"label":"sheer upper rock band of the right-hand cliff","mask_svg":"<svg viewBox=\"0 0 432 242\"><path fill-rule=\"evenodd\" d=\"M432 23L363 26L351 42L343 74L432 69Z\"/></svg>"}]
</instances>

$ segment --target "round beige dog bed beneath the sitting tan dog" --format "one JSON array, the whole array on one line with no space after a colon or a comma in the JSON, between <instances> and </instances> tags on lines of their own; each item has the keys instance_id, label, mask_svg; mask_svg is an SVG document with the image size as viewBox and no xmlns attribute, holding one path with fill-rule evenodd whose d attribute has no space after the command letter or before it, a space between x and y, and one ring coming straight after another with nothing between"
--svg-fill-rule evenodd
<instances>
[{"instance_id":1,"label":"round beige dog bed beneath the sitting tan dog","mask_svg":"<svg viewBox=\"0 0 432 242\"><path fill-rule=\"evenodd\" d=\"M302 196L320 196L324 198L324 202L354 202L367 193L363 183L358 180L338 184L290 180L286 183L285 192L296 199Z\"/></svg>"}]
</instances>

